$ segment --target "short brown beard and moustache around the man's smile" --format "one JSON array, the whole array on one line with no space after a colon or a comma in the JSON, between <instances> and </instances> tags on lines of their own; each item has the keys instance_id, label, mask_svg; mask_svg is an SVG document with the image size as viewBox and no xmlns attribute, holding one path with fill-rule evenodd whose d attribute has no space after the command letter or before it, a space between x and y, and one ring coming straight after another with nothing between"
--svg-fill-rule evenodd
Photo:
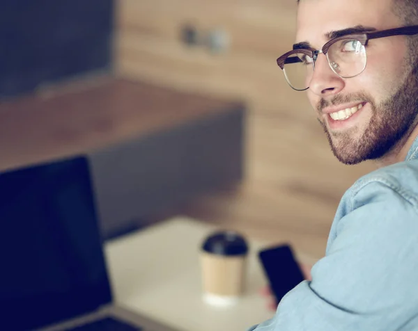
<instances>
[{"instance_id":1,"label":"short brown beard and moustache around the man's smile","mask_svg":"<svg viewBox=\"0 0 418 331\"><path fill-rule=\"evenodd\" d=\"M360 92L338 95L331 101L321 99L318 111L330 104L357 101L368 102L371 106L371 120L359 138L354 138L349 132L332 133L325 122L318 119L336 159L350 165L382 158L399 140L410 134L418 114L418 65L413 67L394 95L380 104L376 104L370 95Z\"/></svg>"}]
</instances>

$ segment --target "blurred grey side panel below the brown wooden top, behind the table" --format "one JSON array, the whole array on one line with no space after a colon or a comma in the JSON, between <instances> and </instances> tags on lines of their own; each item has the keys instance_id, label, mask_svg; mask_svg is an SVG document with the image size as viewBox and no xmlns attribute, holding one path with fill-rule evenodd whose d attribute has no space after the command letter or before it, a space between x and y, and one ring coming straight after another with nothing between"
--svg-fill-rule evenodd
<instances>
[{"instance_id":1,"label":"blurred grey side panel below the brown wooden top, behind the table","mask_svg":"<svg viewBox=\"0 0 418 331\"><path fill-rule=\"evenodd\" d=\"M245 108L236 106L88 155L104 238L241 181Z\"/></svg>"}]
</instances>

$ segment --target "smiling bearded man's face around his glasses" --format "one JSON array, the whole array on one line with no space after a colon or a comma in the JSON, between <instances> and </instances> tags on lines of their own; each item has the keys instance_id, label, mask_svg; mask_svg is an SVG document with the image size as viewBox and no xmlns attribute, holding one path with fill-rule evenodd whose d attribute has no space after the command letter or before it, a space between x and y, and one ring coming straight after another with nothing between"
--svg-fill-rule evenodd
<instances>
[{"instance_id":1,"label":"smiling bearded man's face around his glasses","mask_svg":"<svg viewBox=\"0 0 418 331\"><path fill-rule=\"evenodd\" d=\"M325 34L331 31L359 25L377 30L403 26L392 12L391 1L301 0L296 42L322 49L328 41ZM405 36L369 40L366 54L366 69L350 79L334 74L325 55L319 54L307 90L332 151L346 164L385 155L408 133L416 117L417 68L407 61ZM353 115L332 119L331 113L346 108Z\"/></svg>"}]
</instances>

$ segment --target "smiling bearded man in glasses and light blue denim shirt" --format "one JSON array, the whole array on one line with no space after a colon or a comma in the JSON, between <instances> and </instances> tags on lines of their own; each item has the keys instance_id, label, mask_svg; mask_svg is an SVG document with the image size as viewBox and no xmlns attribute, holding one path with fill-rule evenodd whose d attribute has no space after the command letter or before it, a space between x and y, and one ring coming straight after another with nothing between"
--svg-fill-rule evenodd
<instances>
[{"instance_id":1,"label":"smiling bearded man in glasses and light blue denim shirt","mask_svg":"<svg viewBox=\"0 0 418 331\"><path fill-rule=\"evenodd\" d=\"M378 169L343 195L311 280L251 330L418 330L417 8L300 0L297 43L277 62L339 161Z\"/></svg>"}]
</instances>

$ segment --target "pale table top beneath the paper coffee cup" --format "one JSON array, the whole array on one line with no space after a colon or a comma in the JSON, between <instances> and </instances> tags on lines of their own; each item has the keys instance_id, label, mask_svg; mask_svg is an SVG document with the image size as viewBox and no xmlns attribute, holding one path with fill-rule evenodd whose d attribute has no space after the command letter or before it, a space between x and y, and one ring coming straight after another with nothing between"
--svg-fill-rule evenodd
<instances>
[{"instance_id":1,"label":"pale table top beneath the paper coffee cup","mask_svg":"<svg viewBox=\"0 0 418 331\"><path fill-rule=\"evenodd\" d=\"M176 217L109 241L105 254L118 305L184 331L247 330L273 316L258 294L266 284L249 240L245 295L228 308L202 300L199 248L217 228Z\"/></svg>"}]
</instances>

